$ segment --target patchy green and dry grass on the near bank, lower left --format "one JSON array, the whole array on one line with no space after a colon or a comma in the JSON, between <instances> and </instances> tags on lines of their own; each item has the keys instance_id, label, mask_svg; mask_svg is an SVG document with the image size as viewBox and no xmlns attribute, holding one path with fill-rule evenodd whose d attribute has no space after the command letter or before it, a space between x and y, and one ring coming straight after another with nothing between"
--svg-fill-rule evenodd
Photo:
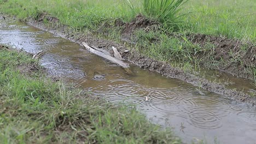
<instances>
[{"instance_id":1,"label":"patchy green and dry grass on the near bank, lower left","mask_svg":"<svg viewBox=\"0 0 256 144\"><path fill-rule=\"evenodd\" d=\"M135 109L53 82L25 52L0 46L0 61L1 143L181 143Z\"/></svg>"}]
</instances>

